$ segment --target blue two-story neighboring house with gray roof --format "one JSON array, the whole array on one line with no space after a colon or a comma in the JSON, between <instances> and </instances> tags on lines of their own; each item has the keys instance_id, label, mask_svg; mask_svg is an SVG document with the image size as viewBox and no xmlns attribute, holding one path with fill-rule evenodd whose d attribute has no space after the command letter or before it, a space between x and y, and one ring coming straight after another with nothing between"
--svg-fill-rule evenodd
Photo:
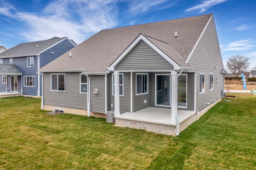
<instances>
[{"instance_id":1,"label":"blue two-story neighboring house with gray roof","mask_svg":"<svg viewBox=\"0 0 256 170\"><path fill-rule=\"evenodd\" d=\"M0 53L0 92L41 96L42 81L38 70L76 46L68 38L21 43Z\"/></svg>"}]
</instances>

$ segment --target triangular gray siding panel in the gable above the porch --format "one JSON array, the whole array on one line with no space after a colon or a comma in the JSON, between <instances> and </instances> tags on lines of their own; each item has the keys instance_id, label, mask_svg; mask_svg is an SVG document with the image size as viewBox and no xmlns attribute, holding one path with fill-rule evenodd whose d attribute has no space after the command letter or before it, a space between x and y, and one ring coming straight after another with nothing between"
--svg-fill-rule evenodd
<instances>
[{"instance_id":1,"label":"triangular gray siding panel in the gable above the porch","mask_svg":"<svg viewBox=\"0 0 256 170\"><path fill-rule=\"evenodd\" d=\"M141 40L123 59L116 65L118 71L151 71L173 70L166 59L158 54L152 47Z\"/></svg>"}]
</instances>

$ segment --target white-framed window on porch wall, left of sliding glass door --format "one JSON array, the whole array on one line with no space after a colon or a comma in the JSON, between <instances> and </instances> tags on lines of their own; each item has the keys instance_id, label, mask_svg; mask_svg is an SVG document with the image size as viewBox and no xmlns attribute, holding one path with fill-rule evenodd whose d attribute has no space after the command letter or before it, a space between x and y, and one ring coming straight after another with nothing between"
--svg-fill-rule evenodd
<instances>
[{"instance_id":1,"label":"white-framed window on porch wall, left of sliding glass door","mask_svg":"<svg viewBox=\"0 0 256 170\"><path fill-rule=\"evenodd\" d=\"M148 74L136 74L136 95L148 93Z\"/></svg>"}]
</instances>

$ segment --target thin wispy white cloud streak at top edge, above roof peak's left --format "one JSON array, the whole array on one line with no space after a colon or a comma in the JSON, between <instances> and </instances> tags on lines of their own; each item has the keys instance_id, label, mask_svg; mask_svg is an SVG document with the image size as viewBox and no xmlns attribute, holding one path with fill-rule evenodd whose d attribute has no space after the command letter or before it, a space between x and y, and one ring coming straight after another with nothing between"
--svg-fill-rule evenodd
<instances>
[{"instance_id":1,"label":"thin wispy white cloud streak at top edge, above roof peak's left","mask_svg":"<svg viewBox=\"0 0 256 170\"><path fill-rule=\"evenodd\" d=\"M212 7L214 5L217 5L217 4L220 4L222 2L225 2L225 1L228 1L228 0L204 0L204 1L202 1L201 4L196 5L192 8L188 8L185 12L191 12L191 11L199 10L199 13L202 13L202 12L208 10L210 7Z\"/></svg>"}]
</instances>

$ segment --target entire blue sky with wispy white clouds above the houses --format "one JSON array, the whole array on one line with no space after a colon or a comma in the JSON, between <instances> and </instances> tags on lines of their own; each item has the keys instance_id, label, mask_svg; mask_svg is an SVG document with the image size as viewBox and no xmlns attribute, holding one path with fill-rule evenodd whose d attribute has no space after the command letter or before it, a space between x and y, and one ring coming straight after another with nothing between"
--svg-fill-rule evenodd
<instances>
[{"instance_id":1,"label":"entire blue sky with wispy white clouds above the houses","mask_svg":"<svg viewBox=\"0 0 256 170\"><path fill-rule=\"evenodd\" d=\"M256 0L0 0L0 45L68 37L81 43L100 30L214 14L224 66L245 55L256 67Z\"/></svg>"}]
</instances>

